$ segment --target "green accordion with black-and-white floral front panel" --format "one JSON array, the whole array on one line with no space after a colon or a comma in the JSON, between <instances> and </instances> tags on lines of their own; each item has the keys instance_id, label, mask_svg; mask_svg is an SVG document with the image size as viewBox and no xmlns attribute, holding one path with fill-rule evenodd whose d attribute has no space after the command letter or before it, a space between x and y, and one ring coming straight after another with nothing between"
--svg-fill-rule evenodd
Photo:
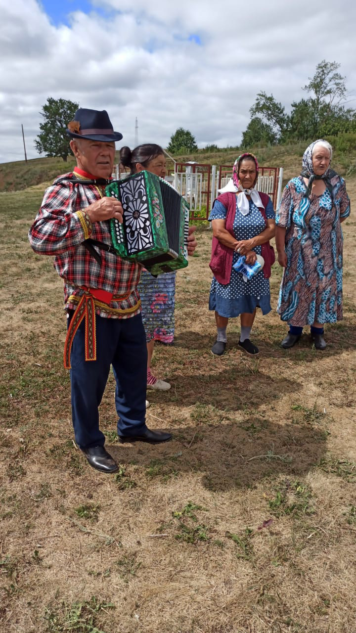
<instances>
[{"instance_id":1,"label":"green accordion with black-and-white floral front panel","mask_svg":"<svg viewBox=\"0 0 356 633\"><path fill-rule=\"evenodd\" d=\"M106 187L122 203L123 222L110 220L113 247L151 274L188 266L189 206L162 178L139 172Z\"/></svg>"}]
</instances>

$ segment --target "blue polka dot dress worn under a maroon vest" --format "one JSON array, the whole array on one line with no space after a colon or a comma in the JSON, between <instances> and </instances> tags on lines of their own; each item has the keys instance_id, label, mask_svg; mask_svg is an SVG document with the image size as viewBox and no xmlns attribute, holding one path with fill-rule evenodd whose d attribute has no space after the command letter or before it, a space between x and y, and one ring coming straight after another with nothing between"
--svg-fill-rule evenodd
<instances>
[{"instance_id":1,"label":"blue polka dot dress worn under a maroon vest","mask_svg":"<svg viewBox=\"0 0 356 633\"><path fill-rule=\"evenodd\" d=\"M236 197L236 213L234 219L234 235L237 240L251 239L265 230L265 221L262 213L255 204L249 200L250 211L243 215L239 211ZM219 200L215 200L209 216L209 220L225 220L227 209ZM267 219L274 220L274 209L269 201L265 208ZM261 247L253 249L258 255ZM239 253L234 253L232 265L238 261ZM269 279L265 279L263 271L257 273L249 281L244 281L241 273L231 270L230 282L227 285L219 284L213 277L210 288L209 310L216 310L220 316L239 316L242 312L253 313L256 307L261 308L262 314L270 312Z\"/></svg>"}]
</instances>

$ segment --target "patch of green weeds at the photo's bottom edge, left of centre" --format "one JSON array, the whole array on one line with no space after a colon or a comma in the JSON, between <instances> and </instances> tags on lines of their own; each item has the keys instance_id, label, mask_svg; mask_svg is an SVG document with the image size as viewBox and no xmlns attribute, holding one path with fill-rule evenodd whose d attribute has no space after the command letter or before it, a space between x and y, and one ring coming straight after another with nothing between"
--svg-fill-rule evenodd
<instances>
[{"instance_id":1,"label":"patch of green weeds at the photo's bottom edge, left of centre","mask_svg":"<svg viewBox=\"0 0 356 633\"><path fill-rule=\"evenodd\" d=\"M46 633L106 633L96 626L98 615L115 609L111 602L101 602L96 596L68 605L62 602L59 609L46 609Z\"/></svg>"}]
</instances>

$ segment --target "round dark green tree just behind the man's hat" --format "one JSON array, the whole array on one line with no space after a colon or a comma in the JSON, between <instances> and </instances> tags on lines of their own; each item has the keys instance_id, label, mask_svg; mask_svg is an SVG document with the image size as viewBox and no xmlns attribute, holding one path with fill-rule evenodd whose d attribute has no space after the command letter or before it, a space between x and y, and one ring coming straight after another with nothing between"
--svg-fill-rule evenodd
<instances>
[{"instance_id":1,"label":"round dark green tree just behind the man's hat","mask_svg":"<svg viewBox=\"0 0 356 633\"><path fill-rule=\"evenodd\" d=\"M39 154L61 156L67 162L70 137L66 130L77 109L78 104L73 101L48 97L47 103L42 106L44 121L39 125L41 133L35 139L35 148Z\"/></svg>"}]
</instances>

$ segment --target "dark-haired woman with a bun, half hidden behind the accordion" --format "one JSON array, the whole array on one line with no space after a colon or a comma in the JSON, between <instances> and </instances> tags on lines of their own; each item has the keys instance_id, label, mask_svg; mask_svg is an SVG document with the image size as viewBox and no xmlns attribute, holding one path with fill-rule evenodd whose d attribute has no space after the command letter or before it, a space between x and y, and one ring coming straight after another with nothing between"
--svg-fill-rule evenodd
<instances>
[{"instance_id":1,"label":"dark-haired woman with a bun, half hidden behind the accordion","mask_svg":"<svg viewBox=\"0 0 356 633\"><path fill-rule=\"evenodd\" d=\"M120 149L122 165L130 168L130 174L143 170L165 178L167 162L162 147L155 143L146 143L130 150L129 147ZM194 231L196 227L189 227L188 254L192 255L196 248ZM142 319L146 332L148 351L147 388L167 391L169 382L156 378L151 372L151 360L155 341L171 344L174 338L174 302L175 302L175 271L162 273L153 277L143 268L138 285L142 304Z\"/></svg>"}]
</instances>

